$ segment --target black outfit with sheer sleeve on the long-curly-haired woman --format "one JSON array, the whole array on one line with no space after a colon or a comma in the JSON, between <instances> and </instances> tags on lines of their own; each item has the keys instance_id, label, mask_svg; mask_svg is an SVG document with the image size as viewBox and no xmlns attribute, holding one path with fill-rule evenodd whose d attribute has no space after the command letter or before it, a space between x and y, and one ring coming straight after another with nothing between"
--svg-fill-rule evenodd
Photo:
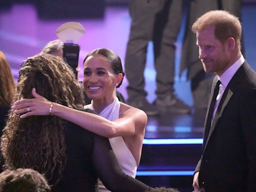
<instances>
[{"instance_id":1,"label":"black outfit with sheer sleeve on the long-curly-haired woman","mask_svg":"<svg viewBox=\"0 0 256 192\"><path fill-rule=\"evenodd\" d=\"M87 112L94 111L83 109ZM71 122L65 123L66 166L52 192L97 191L97 177L111 191L146 191L150 187L120 169L108 139ZM52 184L56 178L52 178Z\"/></svg>"}]
</instances>

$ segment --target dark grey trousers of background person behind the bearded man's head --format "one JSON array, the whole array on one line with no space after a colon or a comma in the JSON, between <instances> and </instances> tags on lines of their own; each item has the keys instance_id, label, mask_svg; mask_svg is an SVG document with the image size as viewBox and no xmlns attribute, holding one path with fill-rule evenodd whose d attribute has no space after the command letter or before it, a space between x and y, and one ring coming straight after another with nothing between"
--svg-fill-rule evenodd
<instances>
[{"instance_id":1,"label":"dark grey trousers of background person behind the bearded man's head","mask_svg":"<svg viewBox=\"0 0 256 192\"><path fill-rule=\"evenodd\" d=\"M191 91L195 108L206 108L209 98L209 87L214 77L205 73L198 58L196 35L191 31L194 21L209 10L227 10L239 19L241 18L241 0L188 0L188 13L182 46L180 71L188 68L188 78L191 80ZM243 43L241 42L242 52ZM244 55L244 53L243 53Z\"/></svg>"}]
</instances>

